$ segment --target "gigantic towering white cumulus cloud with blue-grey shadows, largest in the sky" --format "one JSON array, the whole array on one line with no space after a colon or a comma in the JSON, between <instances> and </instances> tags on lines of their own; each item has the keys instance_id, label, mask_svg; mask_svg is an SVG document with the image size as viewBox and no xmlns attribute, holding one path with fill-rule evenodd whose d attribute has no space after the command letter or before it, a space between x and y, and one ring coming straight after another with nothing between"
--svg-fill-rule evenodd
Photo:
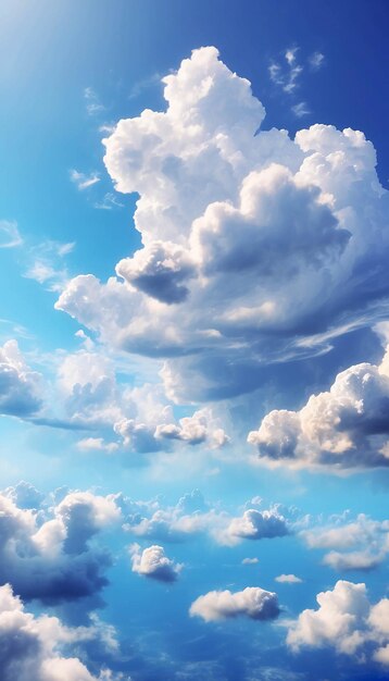
<instances>
[{"instance_id":1,"label":"gigantic towering white cumulus cloud with blue-grey shadows, largest in the sky","mask_svg":"<svg viewBox=\"0 0 389 681\"><path fill-rule=\"evenodd\" d=\"M237 395L264 362L315 354L387 309L388 193L362 133L261 131L263 106L215 48L163 84L165 112L104 140L116 189L140 195L142 248L118 277L68 282L57 308L115 348L163 358L170 398Z\"/></svg>"}]
</instances>

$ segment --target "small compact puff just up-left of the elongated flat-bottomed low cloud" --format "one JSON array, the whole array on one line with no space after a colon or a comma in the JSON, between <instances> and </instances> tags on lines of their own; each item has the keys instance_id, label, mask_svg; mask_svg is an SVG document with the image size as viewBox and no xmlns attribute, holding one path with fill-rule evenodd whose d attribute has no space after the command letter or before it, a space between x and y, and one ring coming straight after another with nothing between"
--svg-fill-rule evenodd
<instances>
[{"instance_id":1,"label":"small compact puff just up-left of the elongated flat-bottomed low cloud","mask_svg":"<svg viewBox=\"0 0 389 681\"><path fill-rule=\"evenodd\" d=\"M160 582L175 582L178 578L183 566L174 562L165 556L162 546L153 544L145 550L140 550L139 544L133 544L129 547L133 572L138 572L143 577L159 580Z\"/></svg>"}]
</instances>

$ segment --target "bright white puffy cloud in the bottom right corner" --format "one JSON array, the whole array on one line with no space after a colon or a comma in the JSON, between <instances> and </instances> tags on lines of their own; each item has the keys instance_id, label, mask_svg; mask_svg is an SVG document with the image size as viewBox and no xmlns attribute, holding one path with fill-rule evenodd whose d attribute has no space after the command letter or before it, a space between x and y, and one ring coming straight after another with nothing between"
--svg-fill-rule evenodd
<instances>
[{"instance_id":1,"label":"bright white puffy cloud in the bottom right corner","mask_svg":"<svg viewBox=\"0 0 389 681\"><path fill-rule=\"evenodd\" d=\"M388 598L372 605L365 584L340 580L332 591L319 593L316 600L318 609L303 610L288 631L287 644L293 651L328 646L353 655L373 644L373 658L389 663Z\"/></svg>"}]
</instances>

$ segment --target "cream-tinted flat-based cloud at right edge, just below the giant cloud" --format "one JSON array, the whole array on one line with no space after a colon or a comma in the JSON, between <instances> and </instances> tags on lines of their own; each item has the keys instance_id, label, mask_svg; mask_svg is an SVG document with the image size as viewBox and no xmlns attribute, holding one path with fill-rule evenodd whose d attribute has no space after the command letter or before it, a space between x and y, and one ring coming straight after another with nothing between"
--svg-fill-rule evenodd
<instances>
[{"instance_id":1,"label":"cream-tinted flat-based cloud at right edge, just below the giant cloud","mask_svg":"<svg viewBox=\"0 0 389 681\"><path fill-rule=\"evenodd\" d=\"M364 468L389 463L389 351L379 366L356 364L300 411L275 410L248 442L267 462Z\"/></svg>"}]
</instances>

